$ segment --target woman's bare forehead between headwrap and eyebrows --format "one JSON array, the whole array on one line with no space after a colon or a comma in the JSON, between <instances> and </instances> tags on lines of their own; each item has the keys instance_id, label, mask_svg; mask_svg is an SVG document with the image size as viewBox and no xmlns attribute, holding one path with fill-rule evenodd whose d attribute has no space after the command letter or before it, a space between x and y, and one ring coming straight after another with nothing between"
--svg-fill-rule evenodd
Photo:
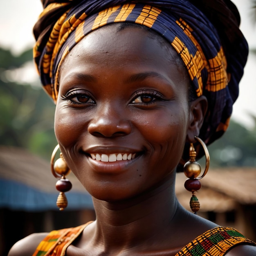
<instances>
[{"instance_id":1,"label":"woman's bare forehead between headwrap and eyebrows","mask_svg":"<svg viewBox=\"0 0 256 256\"><path fill-rule=\"evenodd\" d=\"M142 66L162 67L169 70L175 67L184 77L188 77L184 64L175 49L159 39L151 31L137 26L128 26L119 30L120 25L101 27L85 36L64 59L59 71L70 71L70 66L103 65L105 69L113 64L127 68L141 69ZM105 65L105 66L104 66Z\"/></svg>"}]
</instances>

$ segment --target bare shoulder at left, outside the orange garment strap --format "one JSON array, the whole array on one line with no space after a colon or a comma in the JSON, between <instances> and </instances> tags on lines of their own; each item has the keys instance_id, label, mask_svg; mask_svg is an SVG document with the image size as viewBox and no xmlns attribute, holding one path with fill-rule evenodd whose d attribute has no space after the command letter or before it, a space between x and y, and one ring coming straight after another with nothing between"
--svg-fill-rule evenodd
<instances>
[{"instance_id":1,"label":"bare shoulder at left, outside the orange garment strap","mask_svg":"<svg viewBox=\"0 0 256 256\"><path fill-rule=\"evenodd\" d=\"M8 256L30 256L36 251L36 247L48 233L34 233L15 243Z\"/></svg>"}]
</instances>

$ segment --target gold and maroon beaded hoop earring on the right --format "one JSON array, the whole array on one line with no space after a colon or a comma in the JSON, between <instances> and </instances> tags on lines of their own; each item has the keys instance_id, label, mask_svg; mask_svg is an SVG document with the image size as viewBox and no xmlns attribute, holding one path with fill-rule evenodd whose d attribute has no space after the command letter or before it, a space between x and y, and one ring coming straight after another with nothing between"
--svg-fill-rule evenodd
<instances>
[{"instance_id":1,"label":"gold and maroon beaded hoop earring on the right","mask_svg":"<svg viewBox=\"0 0 256 256\"><path fill-rule=\"evenodd\" d=\"M207 146L204 144L204 141L196 136L195 139L197 139L204 148L206 159L204 173L198 177L201 173L201 166L198 164L198 162L195 161L196 152L193 143L190 144L189 148L189 161L184 164L183 169L186 177L188 177L188 179L185 181L184 187L186 190L192 192L192 197L189 202L190 209L196 214L196 212L200 209L200 203L195 195L195 191L198 191L201 188L201 183L199 180L206 175L209 169L210 155Z\"/></svg>"}]
</instances>

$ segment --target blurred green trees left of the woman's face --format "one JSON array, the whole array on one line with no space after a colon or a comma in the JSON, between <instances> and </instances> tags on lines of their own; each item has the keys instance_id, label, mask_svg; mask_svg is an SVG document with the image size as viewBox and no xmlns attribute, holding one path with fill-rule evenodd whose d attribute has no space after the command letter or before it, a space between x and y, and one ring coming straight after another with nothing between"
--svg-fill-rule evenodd
<instances>
[{"instance_id":1,"label":"blurred green trees left of the woman's face","mask_svg":"<svg viewBox=\"0 0 256 256\"><path fill-rule=\"evenodd\" d=\"M32 61L31 54L31 49L20 56L0 49L0 144L26 148L49 159L56 146L52 99L40 86L11 82L6 76L7 71Z\"/></svg>"}]
</instances>

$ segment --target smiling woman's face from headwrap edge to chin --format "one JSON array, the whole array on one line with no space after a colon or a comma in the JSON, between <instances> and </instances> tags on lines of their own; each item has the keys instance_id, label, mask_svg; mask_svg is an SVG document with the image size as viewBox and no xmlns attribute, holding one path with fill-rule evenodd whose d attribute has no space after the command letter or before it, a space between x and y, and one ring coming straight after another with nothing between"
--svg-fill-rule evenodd
<instances>
[{"instance_id":1,"label":"smiling woman's face from headwrap edge to chin","mask_svg":"<svg viewBox=\"0 0 256 256\"><path fill-rule=\"evenodd\" d=\"M168 180L190 115L189 79L177 53L144 29L117 27L90 33L66 57L55 114L67 164L106 201Z\"/></svg>"}]
</instances>

